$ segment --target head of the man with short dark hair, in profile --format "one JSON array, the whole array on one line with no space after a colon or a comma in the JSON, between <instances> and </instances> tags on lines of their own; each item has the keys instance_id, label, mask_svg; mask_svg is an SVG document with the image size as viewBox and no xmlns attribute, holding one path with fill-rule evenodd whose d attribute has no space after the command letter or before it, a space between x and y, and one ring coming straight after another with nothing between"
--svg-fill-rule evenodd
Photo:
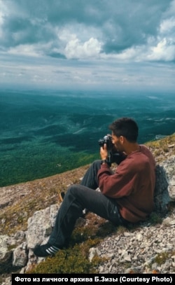
<instances>
[{"instance_id":1,"label":"head of the man with short dark hair, in profile","mask_svg":"<svg viewBox=\"0 0 175 285\"><path fill-rule=\"evenodd\" d=\"M127 151L137 144L139 128L132 118L119 118L109 125L112 131L112 141L118 151Z\"/></svg>"}]
</instances>

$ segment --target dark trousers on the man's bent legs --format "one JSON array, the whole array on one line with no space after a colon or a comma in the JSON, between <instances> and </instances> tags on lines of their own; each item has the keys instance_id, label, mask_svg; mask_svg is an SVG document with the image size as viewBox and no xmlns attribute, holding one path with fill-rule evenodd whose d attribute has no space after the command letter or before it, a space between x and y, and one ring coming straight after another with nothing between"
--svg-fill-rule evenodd
<instances>
[{"instance_id":1,"label":"dark trousers on the man's bent legs","mask_svg":"<svg viewBox=\"0 0 175 285\"><path fill-rule=\"evenodd\" d=\"M96 191L98 188L97 172L100 167L100 160L95 160L85 173L81 183L68 188L48 240L50 244L59 247L59 249L68 245L76 220L83 215L83 209L87 209L115 225L123 224L116 200Z\"/></svg>"}]
</instances>

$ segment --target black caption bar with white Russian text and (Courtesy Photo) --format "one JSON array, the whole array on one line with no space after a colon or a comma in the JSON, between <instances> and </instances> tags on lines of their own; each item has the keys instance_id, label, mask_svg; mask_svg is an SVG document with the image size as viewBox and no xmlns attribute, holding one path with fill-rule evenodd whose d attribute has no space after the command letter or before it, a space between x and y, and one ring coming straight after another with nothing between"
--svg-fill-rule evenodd
<instances>
[{"instance_id":1,"label":"black caption bar with white Russian text and (Courtesy Photo)","mask_svg":"<svg viewBox=\"0 0 175 285\"><path fill-rule=\"evenodd\" d=\"M90 284L99 282L127 284L174 284L175 274L12 274L12 285Z\"/></svg>"}]
</instances>

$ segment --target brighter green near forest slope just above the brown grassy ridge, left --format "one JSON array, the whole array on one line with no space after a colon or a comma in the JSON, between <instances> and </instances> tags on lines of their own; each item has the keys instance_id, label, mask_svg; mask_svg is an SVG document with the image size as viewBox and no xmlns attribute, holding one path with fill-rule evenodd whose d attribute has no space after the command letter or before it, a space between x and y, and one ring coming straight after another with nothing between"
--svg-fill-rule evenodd
<instances>
[{"instance_id":1,"label":"brighter green near forest slope just above the brown grassy ridge, left","mask_svg":"<svg viewBox=\"0 0 175 285\"><path fill-rule=\"evenodd\" d=\"M87 165L99 158L99 153L77 153L53 143L35 144L31 148L28 142L11 151L1 153L0 186L42 179L47 176Z\"/></svg>"}]
</instances>

